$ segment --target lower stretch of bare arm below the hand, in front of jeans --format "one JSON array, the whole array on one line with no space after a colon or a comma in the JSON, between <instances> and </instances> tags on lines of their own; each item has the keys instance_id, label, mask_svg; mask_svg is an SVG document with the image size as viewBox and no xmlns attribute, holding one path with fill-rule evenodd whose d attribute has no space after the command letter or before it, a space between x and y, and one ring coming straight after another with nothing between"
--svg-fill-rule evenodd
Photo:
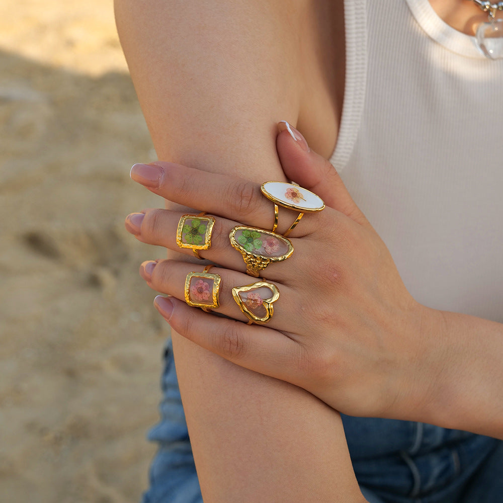
<instances>
[{"instance_id":1,"label":"lower stretch of bare arm below the hand, in front of jeans","mask_svg":"<svg viewBox=\"0 0 503 503\"><path fill-rule=\"evenodd\" d=\"M205 502L360 501L339 414L175 336Z\"/></svg>"}]
</instances>

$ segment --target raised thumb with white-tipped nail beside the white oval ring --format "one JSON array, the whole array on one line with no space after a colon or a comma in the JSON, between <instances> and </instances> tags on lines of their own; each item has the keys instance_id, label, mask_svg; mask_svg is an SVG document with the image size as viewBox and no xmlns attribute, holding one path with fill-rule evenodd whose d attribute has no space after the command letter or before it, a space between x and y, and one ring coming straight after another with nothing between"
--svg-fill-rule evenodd
<instances>
[{"instance_id":1,"label":"raised thumb with white-tipped nail beside the white oval ring","mask_svg":"<svg viewBox=\"0 0 503 503\"><path fill-rule=\"evenodd\" d=\"M305 138L288 122L279 122L278 130L276 149L285 176L317 194L327 206L360 225L370 225L330 162L311 150Z\"/></svg>"}]
</instances>

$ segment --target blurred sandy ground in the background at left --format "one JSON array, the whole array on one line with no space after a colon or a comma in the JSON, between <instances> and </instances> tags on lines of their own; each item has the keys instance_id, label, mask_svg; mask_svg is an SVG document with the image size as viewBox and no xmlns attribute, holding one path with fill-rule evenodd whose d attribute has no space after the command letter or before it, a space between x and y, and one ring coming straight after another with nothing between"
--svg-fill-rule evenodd
<instances>
[{"instance_id":1,"label":"blurred sandy ground in the background at left","mask_svg":"<svg viewBox=\"0 0 503 503\"><path fill-rule=\"evenodd\" d=\"M0 501L137 501L169 332L124 229L162 203L112 2L0 2Z\"/></svg>"}]
</instances>

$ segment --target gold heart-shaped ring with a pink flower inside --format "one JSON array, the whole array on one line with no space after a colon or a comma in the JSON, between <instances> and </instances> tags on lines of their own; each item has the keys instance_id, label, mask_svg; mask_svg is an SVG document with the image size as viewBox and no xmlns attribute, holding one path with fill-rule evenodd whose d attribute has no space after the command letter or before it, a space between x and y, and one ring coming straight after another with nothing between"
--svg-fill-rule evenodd
<instances>
[{"instance_id":1,"label":"gold heart-shaped ring with a pink flower inside","mask_svg":"<svg viewBox=\"0 0 503 503\"><path fill-rule=\"evenodd\" d=\"M267 281L257 281L251 285L232 289L232 296L241 312L248 318L248 324L262 325L273 317L273 303L280 297L278 288Z\"/></svg>"}]
</instances>

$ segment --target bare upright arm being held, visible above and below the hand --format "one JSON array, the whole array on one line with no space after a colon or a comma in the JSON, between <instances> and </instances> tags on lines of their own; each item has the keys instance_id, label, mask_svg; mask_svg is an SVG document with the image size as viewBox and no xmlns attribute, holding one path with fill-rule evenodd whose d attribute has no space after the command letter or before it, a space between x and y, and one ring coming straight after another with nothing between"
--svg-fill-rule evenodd
<instances>
[{"instance_id":1,"label":"bare upright arm being held, visible above and below the hand","mask_svg":"<svg viewBox=\"0 0 503 503\"><path fill-rule=\"evenodd\" d=\"M275 124L295 123L300 106L290 78L298 60L289 5L271 13L279 4L261 4L264 12L232 2L212 3L211 12L202 12L203 3L166 2L160 12L150 2L116 4L159 158L258 182L283 179ZM271 224L273 215L271 207ZM300 388L173 338L205 501L362 499L337 412Z\"/></svg>"}]
</instances>

